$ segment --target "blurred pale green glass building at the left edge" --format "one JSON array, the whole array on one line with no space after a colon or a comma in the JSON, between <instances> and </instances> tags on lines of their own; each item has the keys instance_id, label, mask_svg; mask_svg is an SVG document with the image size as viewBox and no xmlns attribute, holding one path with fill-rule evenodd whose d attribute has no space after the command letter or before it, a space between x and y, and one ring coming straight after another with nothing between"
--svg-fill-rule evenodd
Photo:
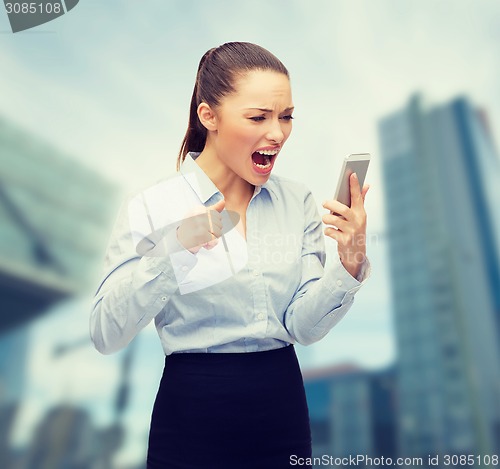
<instances>
[{"instance_id":1,"label":"blurred pale green glass building at the left edge","mask_svg":"<svg viewBox=\"0 0 500 469\"><path fill-rule=\"evenodd\" d=\"M117 187L0 118L0 467L26 387L30 321L94 288Z\"/></svg>"}]
</instances>

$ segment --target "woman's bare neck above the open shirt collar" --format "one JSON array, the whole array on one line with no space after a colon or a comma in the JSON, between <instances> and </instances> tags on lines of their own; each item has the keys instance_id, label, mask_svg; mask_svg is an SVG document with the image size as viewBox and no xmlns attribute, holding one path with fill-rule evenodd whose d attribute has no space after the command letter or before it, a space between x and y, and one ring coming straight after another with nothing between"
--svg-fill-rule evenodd
<instances>
[{"instance_id":1,"label":"woman's bare neck above the open shirt collar","mask_svg":"<svg viewBox=\"0 0 500 469\"><path fill-rule=\"evenodd\" d=\"M226 203L248 203L254 186L228 168L211 148L205 147L196 158L196 163L222 193Z\"/></svg>"}]
</instances>

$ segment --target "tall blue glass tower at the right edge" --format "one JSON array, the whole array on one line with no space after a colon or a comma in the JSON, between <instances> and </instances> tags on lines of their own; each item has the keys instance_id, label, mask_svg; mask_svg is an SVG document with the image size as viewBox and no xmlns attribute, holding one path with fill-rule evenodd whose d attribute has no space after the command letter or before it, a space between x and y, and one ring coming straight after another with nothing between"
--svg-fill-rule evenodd
<instances>
[{"instance_id":1,"label":"tall blue glass tower at the right edge","mask_svg":"<svg viewBox=\"0 0 500 469\"><path fill-rule=\"evenodd\" d=\"M499 450L500 178L485 124L466 98L414 96L379 125L405 457Z\"/></svg>"}]
</instances>

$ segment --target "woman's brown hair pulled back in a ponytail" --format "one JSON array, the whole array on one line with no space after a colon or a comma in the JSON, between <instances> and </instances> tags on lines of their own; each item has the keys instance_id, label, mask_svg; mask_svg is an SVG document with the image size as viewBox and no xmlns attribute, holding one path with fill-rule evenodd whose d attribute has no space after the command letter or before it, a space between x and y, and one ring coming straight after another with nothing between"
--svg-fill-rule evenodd
<instances>
[{"instance_id":1,"label":"woman's brown hair pulled back in a ponytail","mask_svg":"<svg viewBox=\"0 0 500 469\"><path fill-rule=\"evenodd\" d=\"M271 70L289 77L288 70L277 57L263 47L249 42L227 42L203 55L198 65L188 129L177 158L177 169L188 152L201 152L205 147L207 129L198 118L200 103L218 106L224 96L235 91L236 78L252 70Z\"/></svg>"}]
</instances>

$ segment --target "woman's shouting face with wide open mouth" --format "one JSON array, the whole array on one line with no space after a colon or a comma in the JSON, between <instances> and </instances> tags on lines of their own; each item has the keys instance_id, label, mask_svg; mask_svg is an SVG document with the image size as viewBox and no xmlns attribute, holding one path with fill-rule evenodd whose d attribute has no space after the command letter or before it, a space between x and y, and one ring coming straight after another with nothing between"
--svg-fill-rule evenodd
<instances>
[{"instance_id":1,"label":"woman's shouting face with wide open mouth","mask_svg":"<svg viewBox=\"0 0 500 469\"><path fill-rule=\"evenodd\" d=\"M256 70L237 79L234 87L215 109L212 143L229 170L260 185L292 131L290 81L281 73Z\"/></svg>"}]
</instances>

